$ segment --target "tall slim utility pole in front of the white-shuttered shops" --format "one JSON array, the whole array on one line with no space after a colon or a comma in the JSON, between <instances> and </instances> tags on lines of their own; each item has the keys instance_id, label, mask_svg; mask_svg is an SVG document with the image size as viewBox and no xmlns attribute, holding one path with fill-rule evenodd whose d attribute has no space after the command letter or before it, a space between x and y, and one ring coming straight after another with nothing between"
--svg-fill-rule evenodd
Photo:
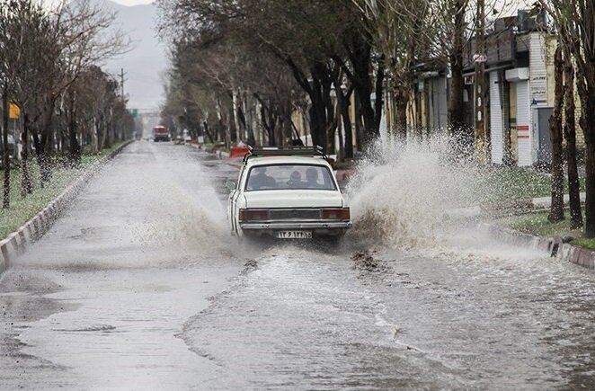
<instances>
[{"instance_id":1,"label":"tall slim utility pole in front of the white-shuttered shops","mask_svg":"<svg viewBox=\"0 0 595 391\"><path fill-rule=\"evenodd\" d=\"M485 137L485 0L477 0L475 31L475 156L485 163L487 143Z\"/></svg>"}]
</instances>

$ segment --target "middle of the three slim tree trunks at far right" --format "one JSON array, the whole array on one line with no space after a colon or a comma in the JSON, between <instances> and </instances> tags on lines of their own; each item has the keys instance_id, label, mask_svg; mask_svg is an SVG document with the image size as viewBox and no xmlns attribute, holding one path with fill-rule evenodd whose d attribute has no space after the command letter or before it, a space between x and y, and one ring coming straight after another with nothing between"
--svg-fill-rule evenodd
<instances>
[{"instance_id":1,"label":"middle of the three slim tree trunks at far right","mask_svg":"<svg viewBox=\"0 0 595 391\"><path fill-rule=\"evenodd\" d=\"M582 227L581 186L576 161L574 70L568 51L564 52L564 84L564 138L566 138L566 162L568 164L570 229L578 229Z\"/></svg>"}]
</instances>

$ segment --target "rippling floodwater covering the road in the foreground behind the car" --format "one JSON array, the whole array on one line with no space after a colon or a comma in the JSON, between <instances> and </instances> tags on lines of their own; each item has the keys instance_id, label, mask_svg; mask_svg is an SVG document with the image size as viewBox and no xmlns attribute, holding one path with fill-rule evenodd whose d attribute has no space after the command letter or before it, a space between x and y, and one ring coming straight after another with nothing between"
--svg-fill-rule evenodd
<instances>
[{"instance_id":1,"label":"rippling floodwater covering the road in the foreground behind the car","mask_svg":"<svg viewBox=\"0 0 595 391\"><path fill-rule=\"evenodd\" d=\"M186 324L185 341L218 364L209 386L594 386L591 274L546 259L376 256L387 261L374 271L271 250Z\"/></svg>"}]
</instances>

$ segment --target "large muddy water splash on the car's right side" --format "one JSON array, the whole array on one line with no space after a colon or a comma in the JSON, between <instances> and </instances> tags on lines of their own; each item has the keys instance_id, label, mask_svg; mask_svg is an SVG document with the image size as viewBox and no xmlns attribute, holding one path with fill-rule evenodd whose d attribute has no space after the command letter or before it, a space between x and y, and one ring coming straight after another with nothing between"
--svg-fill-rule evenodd
<instances>
[{"instance_id":1,"label":"large muddy water splash on the car's right side","mask_svg":"<svg viewBox=\"0 0 595 391\"><path fill-rule=\"evenodd\" d=\"M486 181L485 168L452 145L447 137L377 142L347 188L350 235L360 244L428 255L509 256L509 246L476 229L477 216L456 218L455 211L483 203L501 183Z\"/></svg>"}]
</instances>

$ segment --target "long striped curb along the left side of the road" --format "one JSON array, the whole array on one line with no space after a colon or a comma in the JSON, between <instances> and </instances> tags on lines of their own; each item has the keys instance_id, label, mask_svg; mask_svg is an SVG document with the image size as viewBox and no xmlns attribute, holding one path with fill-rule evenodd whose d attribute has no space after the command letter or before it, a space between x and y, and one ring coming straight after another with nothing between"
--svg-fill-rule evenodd
<instances>
[{"instance_id":1,"label":"long striped curb along the left side of the road","mask_svg":"<svg viewBox=\"0 0 595 391\"><path fill-rule=\"evenodd\" d=\"M128 147L133 140L124 143L118 149L111 152L110 155L102 157L97 163L93 164L82 176L70 184L64 191L58 195L55 200L49 202L49 205L42 209L29 221L18 228L4 240L0 241L0 274L9 268L11 261L18 255L25 252L28 244L39 240L60 217L64 207L83 189L84 184L98 173L103 165L109 162L114 156L118 155L124 147Z\"/></svg>"}]
</instances>

